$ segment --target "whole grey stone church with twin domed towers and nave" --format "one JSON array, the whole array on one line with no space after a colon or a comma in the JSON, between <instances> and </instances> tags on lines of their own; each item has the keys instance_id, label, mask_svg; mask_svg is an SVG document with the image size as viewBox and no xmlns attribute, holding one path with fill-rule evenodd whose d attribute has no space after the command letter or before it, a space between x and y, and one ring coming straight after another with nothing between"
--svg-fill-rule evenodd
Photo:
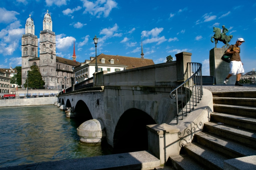
<instances>
[{"instance_id":1,"label":"whole grey stone church with twin domed towers and nave","mask_svg":"<svg viewBox=\"0 0 256 170\"><path fill-rule=\"evenodd\" d=\"M25 34L21 38L21 47L22 86L27 79L30 66L37 65L45 82L45 88L71 87L71 77L74 76L72 67L80 63L76 61L75 56L73 60L56 56L56 36L52 31L52 19L48 10L43 19L43 31L40 31L39 56L37 56L38 38L35 35L34 21L30 16L26 21Z\"/></svg>"}]
</instances>

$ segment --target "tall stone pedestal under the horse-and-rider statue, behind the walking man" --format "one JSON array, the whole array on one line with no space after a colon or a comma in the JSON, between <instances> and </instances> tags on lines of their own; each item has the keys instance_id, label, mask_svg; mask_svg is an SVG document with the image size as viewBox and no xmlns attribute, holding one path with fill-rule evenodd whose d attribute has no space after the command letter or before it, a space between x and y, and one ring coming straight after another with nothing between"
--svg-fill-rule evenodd
<instances>
[{"instance_id":1,"label":"tall stone pedestal under the horse-and-rider statue, behind the walking man","mask_svg":"<svg viewBox=\"0 0 256 170\"><path fill-rule=\"evenodd\" d=\"M229 63L221 59L227 48L213 48L210 50L209 64L210 64L210 76L214 77L214 84L224 84L224 79L227 77L230 66ZM228 84L235 84L236 75L229 78Z\"/></svg>"}]
</instances>

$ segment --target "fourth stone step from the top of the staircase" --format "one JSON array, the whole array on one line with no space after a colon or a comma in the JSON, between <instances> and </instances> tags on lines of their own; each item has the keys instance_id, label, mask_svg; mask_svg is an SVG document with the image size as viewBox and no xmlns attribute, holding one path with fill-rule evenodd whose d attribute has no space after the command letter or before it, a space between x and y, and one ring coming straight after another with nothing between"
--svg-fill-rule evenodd
<instances>
[{"instance_id":1,"label":"fourth stone step from the top of the staircase","mask_svg":"<svg viewBox=\"0 0 256 170\"><path fill-rule=\"evenodd\" d=\"M214 112L211 114L211 122L224 123L235 127L256 130L256 120L253 117Z\"/></svg>"}]
</instances>

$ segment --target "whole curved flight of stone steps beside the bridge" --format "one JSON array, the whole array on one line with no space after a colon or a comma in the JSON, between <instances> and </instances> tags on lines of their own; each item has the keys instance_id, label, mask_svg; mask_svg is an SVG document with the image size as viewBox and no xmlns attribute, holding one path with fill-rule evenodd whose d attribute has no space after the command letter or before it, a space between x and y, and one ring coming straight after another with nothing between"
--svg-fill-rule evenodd
<instances>
[{"instance_id":1,"label":"whole curved flight of stone steps beside the bridge","mask_svg":"<svg viewBox=\"0 0 256 170\"><path fill-rule=\"evenodd\" d=\"M212 94L210 122L179 155L170 156L167 165L185 170L225 169L225 160L256 155L256 92Z\"/></svg>"}]
</instances>

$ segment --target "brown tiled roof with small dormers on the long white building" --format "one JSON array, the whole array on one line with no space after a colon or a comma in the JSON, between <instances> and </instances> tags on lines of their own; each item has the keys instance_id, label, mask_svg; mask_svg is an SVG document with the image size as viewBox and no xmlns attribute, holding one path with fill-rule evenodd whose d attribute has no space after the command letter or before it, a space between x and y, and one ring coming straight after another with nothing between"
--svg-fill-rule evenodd
<instances>
[{"instance_id":1,"label":"brown tiled roof with small dormers on the long white building","mask_svg":"<svg viewBox=\"0 0 256 170\"><path fill-rule=\"evenodd\" d=\"M104 58L105 63L101 63L100 59ZM114 64L110 63L110 60L114 59ZM89 65L94 64L95 65L95 59L93 59ZM127 66L126 69L132 69L137 67L143 67L147 65L153 65L155 64L152 59L142 59L142 58L136 58L136 57L126 57L126 56L120 56L120 55L106 55L101 53L97 56L97 64L98 65L117 65L117 66Z\"/></svg>"}]
</instances>

